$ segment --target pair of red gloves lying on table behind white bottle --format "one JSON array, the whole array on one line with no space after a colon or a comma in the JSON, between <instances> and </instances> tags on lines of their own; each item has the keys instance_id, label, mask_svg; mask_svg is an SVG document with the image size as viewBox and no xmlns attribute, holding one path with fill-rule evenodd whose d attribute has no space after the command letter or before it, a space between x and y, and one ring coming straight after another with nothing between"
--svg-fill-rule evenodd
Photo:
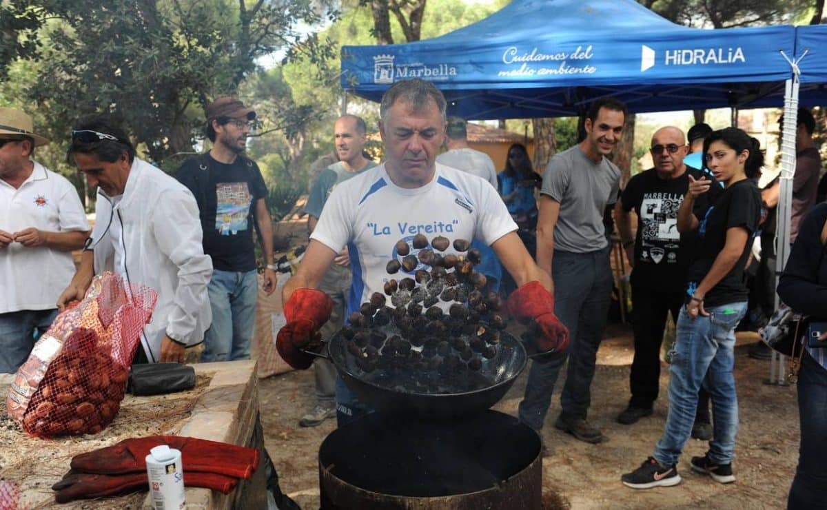
<instances>
[{"instance_id":1,"label":"pair of red gloves lying on table behind white bottle","mask_svg":"<svg viewBox=\"0 0 827 510\"><path fill-rule=\"evenodd\" d=\"M146 455L155 446L169 445L181 452L184 486L230 493L238 479L250 479L259 464L259 451L194 437L150 436L127 439L117 445L75 455L71 470L52 486L57 503L101 498L147 490Z\"/></svg>"}]
</instances>

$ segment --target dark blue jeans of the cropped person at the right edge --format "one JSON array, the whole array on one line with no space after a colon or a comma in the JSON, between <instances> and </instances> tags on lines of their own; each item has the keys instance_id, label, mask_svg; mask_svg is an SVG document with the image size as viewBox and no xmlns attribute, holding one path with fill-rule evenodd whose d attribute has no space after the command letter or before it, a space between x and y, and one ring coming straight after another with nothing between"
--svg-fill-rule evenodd
<instances>
[{"instance_id":1,"label":"dark blue jeans of the cropped person at the right edge","mask_svg":"<svg viewBox=\"0 0 827 510\"><path fill-rule=\"evenodd\" d=\"M801 446L787 508L827 508L827 370L807 352L798 374L798 415Z\"/></svg>"}]
</instances>

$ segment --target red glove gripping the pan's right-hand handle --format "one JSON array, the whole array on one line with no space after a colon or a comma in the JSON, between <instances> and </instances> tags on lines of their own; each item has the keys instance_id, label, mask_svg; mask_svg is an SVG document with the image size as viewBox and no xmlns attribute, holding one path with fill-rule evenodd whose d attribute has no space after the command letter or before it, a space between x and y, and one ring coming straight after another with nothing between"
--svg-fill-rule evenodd
<instances>
[{"instance_id":1,"label":"red glove gripping the pan's right-hand handle","mask_svg":"<svg viewBox=\"0 0 827 510\"><path fill-rule=\"evenodd\" d=\"M560 352L569 342L568 328L554 315L554 297L538 281L521 285L509 296L508 310L520 323L533 321L538 352Z\"/></svg>"}]
</instances>

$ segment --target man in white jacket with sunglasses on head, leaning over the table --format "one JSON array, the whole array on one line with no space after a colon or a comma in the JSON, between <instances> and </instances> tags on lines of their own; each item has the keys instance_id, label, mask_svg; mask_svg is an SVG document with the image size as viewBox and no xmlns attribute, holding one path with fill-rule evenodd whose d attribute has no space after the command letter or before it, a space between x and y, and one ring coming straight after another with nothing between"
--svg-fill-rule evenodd
<instances>
[{"instance_id":1,"label":"man in white jacket with sunglasses on head, leaning over the table","mask_svg":"<svg viewBox=\"0 0 827 510\"><path fill-rule=\"evenodd\" d=\"M58 307L83 298L94 274L122 274L158 293L136 362L184 361L184 348L203 341L212 321L207 284L213 265L203 253L193 194L137 159L127 134L108 117L76 124L69 157L89 187L98 187L98 201L92 237Z\"/></svg>"}]
</instances>

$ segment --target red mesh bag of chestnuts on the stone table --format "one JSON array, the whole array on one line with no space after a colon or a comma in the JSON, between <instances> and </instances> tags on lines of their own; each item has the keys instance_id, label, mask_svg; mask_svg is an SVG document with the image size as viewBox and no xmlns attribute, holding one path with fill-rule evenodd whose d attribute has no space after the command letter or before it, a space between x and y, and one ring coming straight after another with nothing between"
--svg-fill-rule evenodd
<instances>
[{"instance_id":1,"label":"red mesh bag of chestnuts on the stone table","mask_svg":"<svg viewBox=\"0 0 827 510\"><path fill-rule=\"evenodd\" d=\"M8 390L9 417L38 437L96 434L121 408L132 357L157 294L112 273L96 276L36 342Z\"/></svg>"}]
</instances>

